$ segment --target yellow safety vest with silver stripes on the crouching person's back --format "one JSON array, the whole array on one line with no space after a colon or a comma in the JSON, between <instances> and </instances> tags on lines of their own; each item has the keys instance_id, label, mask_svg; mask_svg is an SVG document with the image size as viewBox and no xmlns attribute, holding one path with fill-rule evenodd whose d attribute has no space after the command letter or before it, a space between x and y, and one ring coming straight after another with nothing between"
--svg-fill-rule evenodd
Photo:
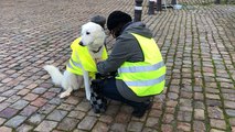
<instances>
[{"instance_id":1,"label":"yellow safety vest with silver stripes on the crouching person's back","mask_svg":"<svg viewBox=\"0 0 235 132\"><path fill-rule=\"evenodd\" d=\"M147 38L131 33L138 41L143 56L143 62L125 62L118 68L117 79L125 84L139 97L160 94L165 82L165 65L160 50L153 38Z\"/></svg>"}]
</instances>

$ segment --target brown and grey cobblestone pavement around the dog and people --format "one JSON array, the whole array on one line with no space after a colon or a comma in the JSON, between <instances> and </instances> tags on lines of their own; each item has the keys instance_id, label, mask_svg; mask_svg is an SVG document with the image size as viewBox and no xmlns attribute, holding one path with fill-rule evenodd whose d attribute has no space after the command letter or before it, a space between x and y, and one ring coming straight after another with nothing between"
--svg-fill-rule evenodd
<instances>
[{"instance_id":1,"label":"brown and grey cobblestone pavement around the dog and people","mask_svg":"<svg viewBox=\"0 0 235 132\"><path fill-rule=\"evenodd\" d=\"M165 91L137 119L115 101L94 114L84 90L60 99L62 89L42 69L65 68L70 44L90 16L133 14L133 1L0 0L0 132L235 132L235 6L179 2L182 10L154 15L143 3L142 21L168 72Z\"/></svg>"}]
</instances>

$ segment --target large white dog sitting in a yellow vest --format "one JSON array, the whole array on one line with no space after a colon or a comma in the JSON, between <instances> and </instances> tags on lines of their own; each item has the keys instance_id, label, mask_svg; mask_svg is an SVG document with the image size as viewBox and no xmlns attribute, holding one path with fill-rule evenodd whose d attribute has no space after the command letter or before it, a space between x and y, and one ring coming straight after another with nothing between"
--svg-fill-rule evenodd
<instances>
[{"instance_id":1,"label":"large white dog sitting in a yellow vest","mask_svg":"<svg viewBox=\"0 0 235 132\"><path fill-rule=\"evenodd\" d=\"M64 74L52 65L43 67L50 74L52 81L65 89L60 95L61 98L85 86L86 98L89 100L90 78L94 78L97 72L95 61L107 58L104 45L106 35L100 25L88 22L82 26L81 34L82 36L71 45L73 52Z\"/></svg>"}]
</instances>

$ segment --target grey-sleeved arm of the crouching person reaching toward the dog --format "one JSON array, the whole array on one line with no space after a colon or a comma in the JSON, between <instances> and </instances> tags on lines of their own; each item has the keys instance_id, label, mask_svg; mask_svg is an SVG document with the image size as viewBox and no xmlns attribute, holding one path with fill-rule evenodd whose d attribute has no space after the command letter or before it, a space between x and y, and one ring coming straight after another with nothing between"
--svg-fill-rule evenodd
<instances>
[{"instance_id":1,"label":"grey-sleeved arm of the crouching person reaching toward the dog","mask_svg":"<svg viewBox=\"0 0 235 132\"><path fill-rule=\"evenodd\" d=\"M97 64L97 70L100 74L107 74L117 70L125 62L141 59L142 53L137 40L132 35L126 35L116 41L108 58Z\"/></svg>"}]
</instances>

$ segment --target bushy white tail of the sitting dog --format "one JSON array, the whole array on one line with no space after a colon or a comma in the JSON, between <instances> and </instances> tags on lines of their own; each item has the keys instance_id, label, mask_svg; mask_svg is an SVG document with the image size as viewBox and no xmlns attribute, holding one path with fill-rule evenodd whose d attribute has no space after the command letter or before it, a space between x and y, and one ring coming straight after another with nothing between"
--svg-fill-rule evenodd
<instances>
[{"instance_id":1,"label":"bushy white tail of the sitting dog","mask_svg":"<svg viewBox=\"0 0 235 132\"><path fill-rule=\"evenodd\" d=\"M43 68L50 74L50 76L52 77L52 81L54 82L54 85L56 85L56 86L61 86L62 85L63 75L58 70L57 67L52 66L52 65L45 65Z\"/></svg>"}]
</instances>

